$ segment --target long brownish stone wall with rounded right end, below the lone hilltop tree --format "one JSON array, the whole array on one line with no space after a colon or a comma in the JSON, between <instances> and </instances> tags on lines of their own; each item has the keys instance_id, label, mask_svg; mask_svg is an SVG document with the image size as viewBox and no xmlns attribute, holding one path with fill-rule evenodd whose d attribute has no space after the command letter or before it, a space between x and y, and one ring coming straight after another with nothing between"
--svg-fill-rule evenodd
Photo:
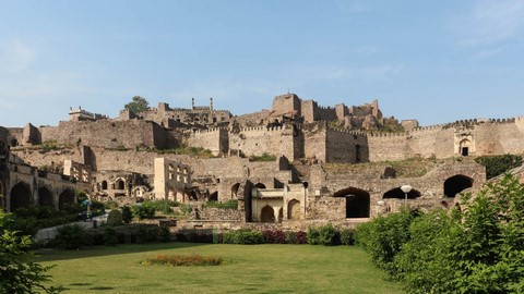
<instances>
[{"instance_id":1,"label":"long brownish stone wall with rounded right end, below the lone hilltop tree","mask_svg":"<svg viewBox=\"0 0 524 294\"><path fill-rule=\"evenodd\" d=\"M163 136L168 135L151 121L60 122L58 126L39 128L41 140L64 145L84 144L107 148L147 146L165 148Z\"/></svg>"}]
</instances>

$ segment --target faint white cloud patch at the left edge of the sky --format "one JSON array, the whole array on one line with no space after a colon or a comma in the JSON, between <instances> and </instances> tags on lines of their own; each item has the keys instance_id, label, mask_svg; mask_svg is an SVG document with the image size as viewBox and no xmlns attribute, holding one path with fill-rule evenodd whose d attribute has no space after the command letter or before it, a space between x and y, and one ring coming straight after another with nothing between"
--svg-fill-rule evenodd
<instances>
[{"instance_id":1,"label":"faint white cloud patch at the left edge of the sky","mask_svg":"<svg viewBox=\"0 0 524 294\"><path fill-rule=\"evenodd\" d=\"M0 63L3 72L24 71L33 64L35 58L35 50L19 39L0 44Z\"/></svg>"}]
</instances>

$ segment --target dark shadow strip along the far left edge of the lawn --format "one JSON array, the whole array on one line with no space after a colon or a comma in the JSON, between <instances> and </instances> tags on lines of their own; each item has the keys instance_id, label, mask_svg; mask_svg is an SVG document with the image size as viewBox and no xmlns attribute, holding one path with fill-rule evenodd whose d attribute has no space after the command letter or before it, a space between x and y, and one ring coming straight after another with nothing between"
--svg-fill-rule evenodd
<instances>
[{"instance_id":1,"label":"dark shadow strip along the far left edge of the lawn","mask_svg":"<svg viewBox=\"0 0 524 294\"><path fill-rule=\"evenodd\" d=\"M199 247L199 246L209 246L209 245L212 245L212 244L171 242L171 243L129 244L129 245L122 244L118 246L87 246L80 250L43 248L34 252L35 253L34 261L43 262L43 261L53 261L53 260L68 260L68 259L91 258L91 257L99 257L99 256L134 254L134 253L144 253L144 252L159 252L159 250L166 250L166 249Z\"/></svg>"}]
</instances>

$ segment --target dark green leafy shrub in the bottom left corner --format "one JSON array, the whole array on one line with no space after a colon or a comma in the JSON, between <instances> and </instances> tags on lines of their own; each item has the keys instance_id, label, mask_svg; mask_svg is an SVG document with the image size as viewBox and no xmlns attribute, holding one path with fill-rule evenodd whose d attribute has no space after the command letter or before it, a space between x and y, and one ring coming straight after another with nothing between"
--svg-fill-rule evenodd
<instances>
[{"instance_id":1,"label":"dark green leafy shrub in the bottom left corner","mask_svg":"<svg viewBox=\"0 0 524 294\"><path fill-rule=\"evenodd\" d=\"M0 293L59 293L61 289L45 286L51 267L31 261L31 236L20 236L8 229L12 217L0 209Z\"/></svg>"}]
</instances>

